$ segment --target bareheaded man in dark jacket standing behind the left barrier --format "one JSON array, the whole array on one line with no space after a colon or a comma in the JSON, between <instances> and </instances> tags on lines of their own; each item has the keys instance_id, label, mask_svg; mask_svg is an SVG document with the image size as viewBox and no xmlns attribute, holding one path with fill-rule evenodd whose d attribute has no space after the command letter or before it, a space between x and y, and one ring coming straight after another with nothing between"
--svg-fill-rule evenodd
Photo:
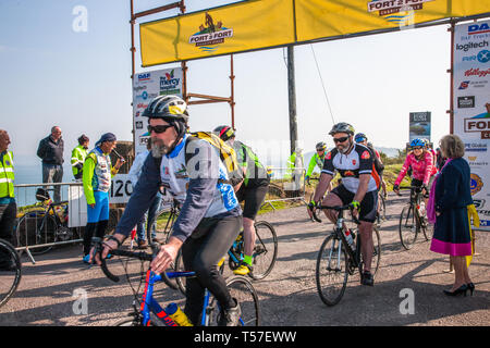
<instances>
[{"instance_id":1,"label":"bareheaded man in dark jacket standing behind the left barrier","mask_svg":"<svg viewBox=\"0 0 490 348\"><path fill-rule=\"evenodd\" d=\"M61 128L53 126L51 135L39 141L37 156L42 160L42 183L61 183L63 181L64 141ZM54 186L54 202L61 201L61 187Z\"/></svg>"}]
</instances>

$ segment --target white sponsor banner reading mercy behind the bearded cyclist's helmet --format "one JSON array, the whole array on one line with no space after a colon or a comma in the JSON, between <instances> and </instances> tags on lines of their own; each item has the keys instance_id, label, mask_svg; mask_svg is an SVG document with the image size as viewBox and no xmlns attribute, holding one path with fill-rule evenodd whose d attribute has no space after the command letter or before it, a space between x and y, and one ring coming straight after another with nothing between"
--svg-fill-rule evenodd
<instances>
[{"instance_id":1,"label":"white sponsor banner reading mercy behind the bearded cyclist's helmet","mask_svg":"<svg viewBox=\"0 0 490 348\"><path fill-rule=\"evenodd\" d=\"M183 74L181 67L164 69L135 74L133 78L133 123L135 152L146 150L149 138L148 120L142 117L143 111L157 96L175 95L182 97Z\"/></svg>"}]
</instances>

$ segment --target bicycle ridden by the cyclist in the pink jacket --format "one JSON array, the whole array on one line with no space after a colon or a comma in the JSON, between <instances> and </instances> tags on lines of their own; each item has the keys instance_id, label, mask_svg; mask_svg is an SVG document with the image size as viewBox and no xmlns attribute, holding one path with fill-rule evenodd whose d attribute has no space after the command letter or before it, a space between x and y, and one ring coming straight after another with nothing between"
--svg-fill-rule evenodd
<instances>
[{"instance_id":1,"label":"bicycle ridden by the cyclist in the pink jacket","mask_svg":"<svg viewBox=\"0 0 490 348\"><path fill-rule=\"evenodd\" d=\"M427 220L421 187L402 186L400 189L411 190L411 201L403 207L399 223L400 241L406 250L409 250L417 240L420 229L426 241L430 240L430 231L433 233L433 225L429 224ZM401 195L399 194L399 196Z\"/></svg>"}]
</instances>

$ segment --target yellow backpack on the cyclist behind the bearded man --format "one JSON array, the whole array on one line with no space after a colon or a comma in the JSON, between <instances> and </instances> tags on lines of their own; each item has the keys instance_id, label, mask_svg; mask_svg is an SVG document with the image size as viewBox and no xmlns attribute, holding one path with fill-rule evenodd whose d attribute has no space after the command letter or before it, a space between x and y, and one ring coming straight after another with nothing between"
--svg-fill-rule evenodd
<instances>
[{"instance_id":1,"label":"yellow backpack on the cyclist behind the bearded man","mask_svg":"<svg viewBox=\"0 0 490 348\"><path fill-rule=\"evenodd\" d=\"M219 136L210 132L193 132L189 134L187 142L185 145L185 161L187 162L192 153L187 152L187 146L191 141L196 139L203 139L208 141L212 147L218 149L220 159L223 162L228 171L228 181L219 181L220 183L231 184L233 186L240 184L243 181L242 170L236 158L235 150L225 144Z\"/></svg>"}]
</instances>

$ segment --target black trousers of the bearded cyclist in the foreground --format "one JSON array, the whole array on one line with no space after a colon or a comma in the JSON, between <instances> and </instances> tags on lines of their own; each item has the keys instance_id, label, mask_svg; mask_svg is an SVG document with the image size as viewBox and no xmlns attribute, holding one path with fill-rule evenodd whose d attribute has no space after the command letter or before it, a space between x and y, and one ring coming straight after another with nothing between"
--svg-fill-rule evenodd
<instances>
[{"instance_id":1,"label":"black trousers of the bearded cyclist in the foreground","mask_svg":"<svg viewBox=\"0 0 490 348\"><path fill-rule=\"evenodd\" d=\"M204 221L182 246L185 270L196 272L196 277L187 278L186 282L184 310L194 325L200 324L206 288L215 296L221 308L229 309L235 306L218 270L218 262L238 236L242 222L242 216Z\"/></svg>"}]
</instances>

